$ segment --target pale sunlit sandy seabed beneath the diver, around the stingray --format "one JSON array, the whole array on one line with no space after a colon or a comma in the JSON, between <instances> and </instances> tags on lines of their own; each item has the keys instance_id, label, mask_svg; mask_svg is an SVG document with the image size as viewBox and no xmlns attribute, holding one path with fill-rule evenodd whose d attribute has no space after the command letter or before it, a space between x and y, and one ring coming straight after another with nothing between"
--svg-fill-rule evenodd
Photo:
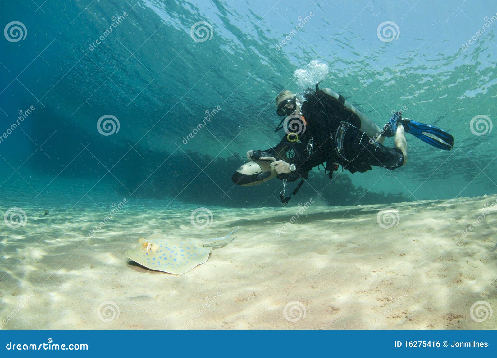
<instances>
[{"instance_id":1,"label":"pale sunlit sandy seabed beneath the diver, around the stingray","mask_svg":"<svg viewBox=\"0 0 497 358\"><path fill-rule=\"evenodd\" d=\"M0 326L495 329L496 200L417 201L388 211L210 208L206 228L190 222L194 208L130 202L93 237L112 207L54 206L44 215L24 206L23 226L0 226ZM148 270L124 254L155 232L213 238L237 226L231 243L183 275Z\"/></svg>"}]
</instances>

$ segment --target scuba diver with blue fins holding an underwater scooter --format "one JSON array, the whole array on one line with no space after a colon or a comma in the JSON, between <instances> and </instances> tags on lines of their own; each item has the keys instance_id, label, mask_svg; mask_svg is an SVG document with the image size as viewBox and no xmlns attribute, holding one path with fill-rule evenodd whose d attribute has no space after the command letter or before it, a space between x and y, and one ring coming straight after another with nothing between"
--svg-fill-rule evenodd
<instances>
[{"instance_id":1,"label":"scuba diver with blue fins holding an underwater scooter","mask_svg":"<svg viewBox=\"0 0 497 358\"><path fill-rule=\"evenodd\" d=\"M405 133L437 148L450 150L454 138L447 132L427 124L403 119L395 113L380 129L341 95L329 88L307 89L304 101L284 90L275 99L276 114L283 119L275 129L285 136L273 148L249 150L248 163L232 176L237 185L257 185L274 177L283 181L281 202L286 205L309 176L309 171L323 165L332 178L333 171L343 169L366 172L372 166L395 170L407 163ZM395 137L395 147L386 147L386 138ZM286 183L301 179L290 196L285 197Z\"/></svg>"}]
</instances>

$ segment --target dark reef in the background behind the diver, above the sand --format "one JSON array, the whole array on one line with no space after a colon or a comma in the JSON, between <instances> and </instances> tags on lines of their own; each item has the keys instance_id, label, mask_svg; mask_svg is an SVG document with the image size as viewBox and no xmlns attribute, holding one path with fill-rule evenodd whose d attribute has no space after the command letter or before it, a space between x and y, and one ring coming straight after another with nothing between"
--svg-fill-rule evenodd
<instances>
[{"instance_id":1,"label":"dark reef in the background behind the diver, above the sand","mask_svg":"<svg viewBox=\"0 0 497 358\"><path fill-rule=\"evenodd\" d=\"M174 153L151 150L139 144L132 148L134 143L123 143L118 136L93 136L54 111L43 110L46 111L43 117L50 120L35 121L30 137L35 143L43 143L52 135L43 145L43 151L50 159L38 151L26 163L38 172L92 178L95 183L105 176L115 183L117 193L123 196L133 193L137 198L175 199L184 203L235 208L281 206L281 181L278 179L254 187L233 185L233 172L246 161L238 153L227 158L212 158L184 147ZM288 184L289 192L296 184ZM329 205L386 204L407 200L403 193L385 195L355 187L345 173L335 173L330 183L323 171L311 172L308 183L290 204L305 203L310 198L324 199Z\"/></svg>"}]
</instances>

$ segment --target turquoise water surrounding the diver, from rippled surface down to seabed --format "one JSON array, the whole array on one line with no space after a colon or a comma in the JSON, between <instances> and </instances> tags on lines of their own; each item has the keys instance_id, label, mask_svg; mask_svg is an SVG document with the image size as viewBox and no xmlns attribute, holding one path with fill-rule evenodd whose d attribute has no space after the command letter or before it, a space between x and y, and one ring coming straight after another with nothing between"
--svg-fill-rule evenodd
<instances>
[{"instance_id":1,"label":"turquoise water surrounding the diver, from rippled surface down to seabed","mask_svg":"<svg viewBox=\"0 0 497 358\"><path fill-rule=\"evenodd\" d=\"M403 110L455 137L451 152L410 137L407 167L395 175L379 168L354 174L355 186L402 192L409 200L495 193L496 142L488 127L497 96L492 1L421 1L413 7L398 1L134 2L1 4L1 23L19 21L26 35L1 41L2 132L19 111L35 108L0 143L3 180L15 169L47 184L57 175L83 178L90 186L100 180L97 186L163 199L196 178L185 191L204 188L212 195L183 191L178 200L209 204L230 191L234 195L217 204L240 206L237 197L254 190L230 189L227 176L240 163L238 153L277 143L274 97L319 79L379 125L391 111ZM200 29L192 36L199 21L208 23L208 33ZM385 21L395 23L393 38L388 29L381 32L389 26L380 27ZM309 72L312 61L328 71L294 76L299 69ZM118 119L118 132L99 134L96 123L104 115ZM471 131L478 115L490 120L483 119L489 132L483 136ZM187 152L233 161L206 166L209 159L188 155L190 160ZM180 170L184 180L171 185ZM8 180L23 181L18 174ZM270 195L280 184L258 190Z\"/></svg>"}]
</instances>

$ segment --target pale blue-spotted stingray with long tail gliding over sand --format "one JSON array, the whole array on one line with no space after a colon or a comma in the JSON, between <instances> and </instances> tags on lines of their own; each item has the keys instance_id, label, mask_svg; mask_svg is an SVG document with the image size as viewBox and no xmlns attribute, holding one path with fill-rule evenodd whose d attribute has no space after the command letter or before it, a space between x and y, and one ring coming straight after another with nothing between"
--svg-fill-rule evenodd
<instances>
[{"instance_id":1,"label":"pale blue-spotted stingray with long tail gliding over sand","mask_svg":"<svg viewBox=\"0 0 497 358\"><path fill-rule=\"evenodd\" d=\"M126 256L140 265L169 274L184 274L209 259L213 248L226 245L240 227L228 235L214 239L174 239L155 233L138 246L126 251Z\"/></svg>"}]
</instances>

